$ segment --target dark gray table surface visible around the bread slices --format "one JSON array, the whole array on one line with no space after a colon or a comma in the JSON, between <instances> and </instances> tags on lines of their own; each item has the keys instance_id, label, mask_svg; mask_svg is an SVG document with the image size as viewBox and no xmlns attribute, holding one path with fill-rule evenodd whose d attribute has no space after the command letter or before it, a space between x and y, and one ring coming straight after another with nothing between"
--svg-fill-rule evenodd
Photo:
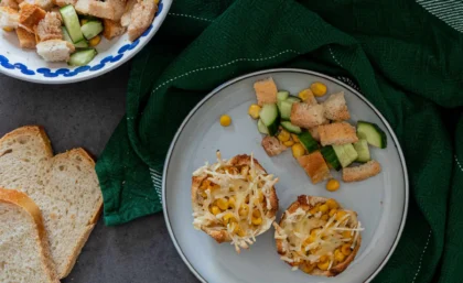
<instances>
[{"instance_id":1,"label":"dark gray table surface visible around the bread slices","mask_svg":"<svg viewBox=\"0 0 463 283\"><path fill-rule=\"evenodd\" d=\"M84 83L47 86L0 75L0 134L45 127L55 153L84 146L98 156L125 113L129 67ZM100 220L63 283L197 282L169 237L162 214L118 227Z\"/></svg>"}]
</instances>

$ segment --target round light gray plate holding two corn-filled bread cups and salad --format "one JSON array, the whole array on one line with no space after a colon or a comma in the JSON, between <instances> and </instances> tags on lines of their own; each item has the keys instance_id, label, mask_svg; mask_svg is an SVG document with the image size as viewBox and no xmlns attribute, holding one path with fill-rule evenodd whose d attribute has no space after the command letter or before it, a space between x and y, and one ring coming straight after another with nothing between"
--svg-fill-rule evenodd
<instances>
[{"instance_id":1,"label":"round light gray plate holding two corn-filled bread cups and salad","mask_svg":"<svg viewBox=\"0 0 463 283\"><path fill-rule=\"evenodd\" d=\"M291 94L298 94L313 81L324 83L329 94L344 90L352 122L375 122L387 133L387 149L370 149L373 159L381 164L383 172L364 182L341 183L337 192L330 193L324 188L324 183L312 185L290 150L270 159L260 145L262 137L257 131L256 121L247 115L249 105L256 102L254 83L269 76L273 77L279 89ZM225 113L233 119L227 128L218 123L218 118ZM336 277L310 276L301 271L291 271L279 259L273 228L259 236L250 250L244 250L240 254L235 252L233 246L217 244L206 233L194 230L190 194L192 172L204 165L205 161L215 162L216 150L222 151L224 159L254 153L269 173L280 177L277 184L280 199L277 219L302 194L333 197L342 206L357 211L365 231L355 261ZM341 179L340 173L333 175ZM408 178L403 155L390 126L355 89L314 72L269 69L219 86L191 111L180 127L165 161L162 200L175 248L202 282L358 283L370 281L397 246L407 215Z\"/></svg>"}]
</instances>

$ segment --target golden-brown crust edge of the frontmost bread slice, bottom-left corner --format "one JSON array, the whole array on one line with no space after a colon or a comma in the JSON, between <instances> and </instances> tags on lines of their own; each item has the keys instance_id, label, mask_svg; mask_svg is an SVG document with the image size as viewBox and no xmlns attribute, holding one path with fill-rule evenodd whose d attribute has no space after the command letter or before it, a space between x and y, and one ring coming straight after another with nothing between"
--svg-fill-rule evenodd
<instances>
[{"instance_id":1,"label":"golden-brown crust edge of the frontmost bread slice, bottom-left corner","mask_svg":"<svg viewBox=\"0 0 463 283\"><path fill-rule=\"evenodd\" d=\"M14 189L6 189L0 187L0 203L9 203L24 209L33 219L39 233L39 251L44 272L52 283L60 283L52 263L46 231L43 225L42 213L35 203L24 193Z\"/></svg>"}]
</instances>

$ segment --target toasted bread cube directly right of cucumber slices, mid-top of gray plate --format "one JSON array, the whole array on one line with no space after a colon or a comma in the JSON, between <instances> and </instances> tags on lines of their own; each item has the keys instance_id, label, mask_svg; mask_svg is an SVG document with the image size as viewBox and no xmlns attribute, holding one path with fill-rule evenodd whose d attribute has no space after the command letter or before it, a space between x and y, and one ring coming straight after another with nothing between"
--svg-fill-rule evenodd
<instances>
[{"instance_id":1,"label":"toasted bread cube directly right of cucumber slices, mid-top of gray plate","mask_svg":"<svg viewBox=\"0 0 463 283\"><path fill-rule=\"evenodd\" d=\"M293 104L291 108L291 123L310 129L326 122L322 105Z\"/></svg>"}]
</instances>

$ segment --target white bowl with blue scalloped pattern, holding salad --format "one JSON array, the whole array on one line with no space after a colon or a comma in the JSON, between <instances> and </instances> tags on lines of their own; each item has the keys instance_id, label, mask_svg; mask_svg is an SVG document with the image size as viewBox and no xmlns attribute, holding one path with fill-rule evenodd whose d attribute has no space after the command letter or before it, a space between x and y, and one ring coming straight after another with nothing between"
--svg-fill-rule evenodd
<instances>
[{"instance_id":1,"label":"white bowl with blue scalloped pattern, holding salad","mask_svg":"<svg viewBox=\"0 0 463 283\"><path fill-rule=\"evenodd\" d=\"M158 32L169 13L172 0L161 0L153 23L134 42L123 34L110 41L101 40L98 55L86 66L72 67L66 63L47 63L35 50L22 50L15 32L0 31L0 73L39 84L69 84L95 78L133 57Z\"/></svg>"}]
</instances>

